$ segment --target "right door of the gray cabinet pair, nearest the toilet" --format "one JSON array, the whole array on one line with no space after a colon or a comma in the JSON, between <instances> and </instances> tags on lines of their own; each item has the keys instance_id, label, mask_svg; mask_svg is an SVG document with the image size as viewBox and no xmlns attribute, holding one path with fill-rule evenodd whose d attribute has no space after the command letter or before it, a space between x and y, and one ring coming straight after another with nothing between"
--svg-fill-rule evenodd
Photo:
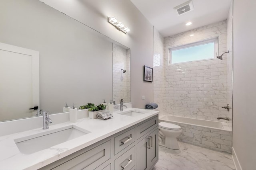
<instances>
[{"instance_id":1,"label":"right door of the gray cabinet pair, nearest the toilet","mask_svg":"<svg viewBox=\"0 0 256 170\"><path fill-rule=\"evenodd\" d=\"M158 160L158 129L148 135L147 138L150 140L150 147L147 150L148 167L151 168Z\"/></svg>"}]
</instances>

